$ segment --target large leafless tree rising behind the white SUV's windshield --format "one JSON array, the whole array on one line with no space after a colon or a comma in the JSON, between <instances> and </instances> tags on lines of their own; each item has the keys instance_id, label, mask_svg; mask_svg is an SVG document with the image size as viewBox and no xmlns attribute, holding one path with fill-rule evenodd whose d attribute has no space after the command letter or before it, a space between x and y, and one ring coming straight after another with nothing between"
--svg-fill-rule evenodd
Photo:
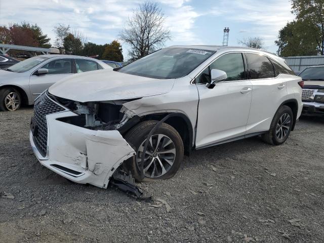
<instances>
[{"instance_id":1,"label":"large leafless tree rising behind the white SUV's windshield","mask_svg":"<svg viewBox=\"0 0 324 243\"><path fill-rule=\"evenodd\" d=\"M164 27L165 17L157 3L145 2L133 12L119 39L130 46L131 59L143 57L171 39L170 30Z\"/></svg>"}]
</instances>

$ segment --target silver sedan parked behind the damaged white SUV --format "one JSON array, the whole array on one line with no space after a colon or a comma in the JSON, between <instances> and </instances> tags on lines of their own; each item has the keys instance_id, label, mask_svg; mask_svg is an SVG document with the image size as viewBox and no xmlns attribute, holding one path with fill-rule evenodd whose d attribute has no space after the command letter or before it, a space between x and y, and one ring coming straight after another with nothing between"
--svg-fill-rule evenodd
<instances>
[{"instance_id":1,"label":"silver sedan parked behind the damaged white SUV","mask_svg":"<svg viewBox=\"0 0 324 243\"><path fill-rule=\"evenodd\" d=\"M32 105L39 94L60 79L74 73L112 69L89 57L41 55L0 70L0 110L14 111Z\"/></svg>"}]
</instances>

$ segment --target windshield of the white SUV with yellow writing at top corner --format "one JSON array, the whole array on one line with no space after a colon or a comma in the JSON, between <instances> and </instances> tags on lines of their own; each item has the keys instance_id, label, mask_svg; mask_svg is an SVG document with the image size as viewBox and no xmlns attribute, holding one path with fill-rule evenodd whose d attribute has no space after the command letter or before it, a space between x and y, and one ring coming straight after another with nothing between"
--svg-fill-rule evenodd
<instances>
[{"instance_id":1,"label":"windshield of the white SUV with yellow writing at top corner","mask_svg":"<svg viewBox=\"0 0 324 243\"><path fill-rule=\"evenodd\" d=\"M119 72L152 78L179 78L189 74L215 52L190 48L165 48L138 59Z\"/></svg>"}]
</instances>

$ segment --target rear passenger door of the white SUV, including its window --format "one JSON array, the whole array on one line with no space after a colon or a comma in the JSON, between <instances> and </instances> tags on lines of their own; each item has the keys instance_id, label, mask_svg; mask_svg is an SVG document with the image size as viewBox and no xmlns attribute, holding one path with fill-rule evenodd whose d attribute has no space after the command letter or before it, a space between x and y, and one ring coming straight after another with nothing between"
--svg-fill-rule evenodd
<instances>
[{"instance_id":1,"label":"rear passenger door of the white SUV, including its window","mask_svg":"<svg viewBox=\"0 0 324 243\"><path fill-rule=\"evenodd\" d=\"M257 53L245 53L249 79L253 85L247 134L267 131L272 118L287 96L286 79L282 78L270 59Z\"/></svg>"}]
</instances>

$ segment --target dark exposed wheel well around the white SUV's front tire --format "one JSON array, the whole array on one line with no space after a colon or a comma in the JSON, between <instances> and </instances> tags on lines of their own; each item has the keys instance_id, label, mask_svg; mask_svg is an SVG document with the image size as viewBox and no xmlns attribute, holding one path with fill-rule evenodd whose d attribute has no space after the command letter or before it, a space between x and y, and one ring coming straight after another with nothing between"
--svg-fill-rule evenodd
<instances>
[{"instance_id":1,"label":"dark exposed wheel well around the white SUV's front tire","mask_svg":"<svg viewBox=\"0 0 324 243\"><path fill-rule=\"evenodd\" d=\"M141 117L141 121L143 120L161 120L163 117L168 115L169 113L158 113L158 114L149 114ZM180 134L184 152L186 155L189 155L192 151L192 136L193 130L191 126L191 122L189 118L179 113L178 116L170 117L165 121L166 124L172 126L177 132Z\"/></svg>"}]
</instances>

